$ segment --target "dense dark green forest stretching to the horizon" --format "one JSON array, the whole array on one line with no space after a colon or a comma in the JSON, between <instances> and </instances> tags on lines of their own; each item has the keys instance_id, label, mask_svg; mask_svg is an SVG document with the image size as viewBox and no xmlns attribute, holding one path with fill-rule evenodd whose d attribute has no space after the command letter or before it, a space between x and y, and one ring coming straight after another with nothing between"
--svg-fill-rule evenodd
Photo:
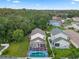
<instances>
[{"instance_id":1,"label":"dense dark green forest stretching to the horizon","mask_svg":"<svg viewBox=\"0 0 79 59\"><path fill-rule=\"evenodd\" d=\"M67 14L67 15L66 15ZM48 20L52 16L61 17L79 16L78 10L26 10L26 9L0 9L0 42L12 42L13 32L17 29L24 31L24 36L39 27L46 30ZM69 23L68 21L67 23Z\"/></svg>"}]
</instances>

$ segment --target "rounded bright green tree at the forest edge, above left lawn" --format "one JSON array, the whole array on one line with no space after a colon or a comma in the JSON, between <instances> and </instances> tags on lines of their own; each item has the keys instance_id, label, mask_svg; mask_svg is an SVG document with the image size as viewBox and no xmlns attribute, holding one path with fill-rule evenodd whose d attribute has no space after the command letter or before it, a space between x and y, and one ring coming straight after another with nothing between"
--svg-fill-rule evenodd
<instances>
[{"instance_id":1,"label":"rounded bright green tree at the forest edge, above left lawn","mask_svg":"<svg viewBox=\"0 0 79 59\"><path fill-rule=\"evenodd\" d=\"M24 31L21 30L21 29L17 29L13 32L13 39L16 41L16 42L20 42L23 40L24 38Z\"/></svg>"}]
</instances>

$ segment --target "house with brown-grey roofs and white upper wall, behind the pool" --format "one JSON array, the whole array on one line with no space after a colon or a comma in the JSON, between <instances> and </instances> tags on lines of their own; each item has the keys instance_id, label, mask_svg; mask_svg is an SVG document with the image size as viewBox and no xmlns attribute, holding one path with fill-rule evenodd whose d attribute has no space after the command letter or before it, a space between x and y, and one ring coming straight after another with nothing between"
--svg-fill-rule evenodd
<instances>
[{"instance_id":1,"label":"house with brown-grey roofs and white upper wall, behind the pool","mask_svg":"<svg viewBox=\"0 0 79 59\"><path fill-rule=\"evenodd\" d=\"M45 32L39 28L32 30L30 45L31 47L39 47L41 44L45 44Z\"/></svg>"}]
</instances>

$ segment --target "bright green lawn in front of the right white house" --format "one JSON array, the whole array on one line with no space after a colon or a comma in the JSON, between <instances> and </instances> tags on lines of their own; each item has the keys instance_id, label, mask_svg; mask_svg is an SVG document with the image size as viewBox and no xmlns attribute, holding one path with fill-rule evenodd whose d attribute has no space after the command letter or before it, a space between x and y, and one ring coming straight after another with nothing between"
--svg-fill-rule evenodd
<instances>
[{"instance_id":1,"label":"bright green lawn in front of the right white house","mask_svg":"<svg viewBox=\"0 0 79 59\"><path fill-rule=\"evenodd\" d=\"M61 57L79 57L79 49L70 48L70 49L53 49L55 58Z\"/></svg>"}]
</instances>

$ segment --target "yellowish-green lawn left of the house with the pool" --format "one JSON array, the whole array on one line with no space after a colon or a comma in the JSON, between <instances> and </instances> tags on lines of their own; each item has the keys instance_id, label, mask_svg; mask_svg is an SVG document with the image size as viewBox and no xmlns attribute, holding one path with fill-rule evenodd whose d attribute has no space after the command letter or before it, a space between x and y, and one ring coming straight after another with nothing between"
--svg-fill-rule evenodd
<instances>
[{"instance_id":1,"label":"yellowish-green lawn left of the house with the pool","mask_svg":"<svg viewBox=\"0 0 79 59\"><path fill-rule=\"evenodd\" d=\"M11 43L10 47L3 53L3 55L25 57L28 52L28 47L29 47L28 40L19 43Z\"/></svg>"}]
</instances>

